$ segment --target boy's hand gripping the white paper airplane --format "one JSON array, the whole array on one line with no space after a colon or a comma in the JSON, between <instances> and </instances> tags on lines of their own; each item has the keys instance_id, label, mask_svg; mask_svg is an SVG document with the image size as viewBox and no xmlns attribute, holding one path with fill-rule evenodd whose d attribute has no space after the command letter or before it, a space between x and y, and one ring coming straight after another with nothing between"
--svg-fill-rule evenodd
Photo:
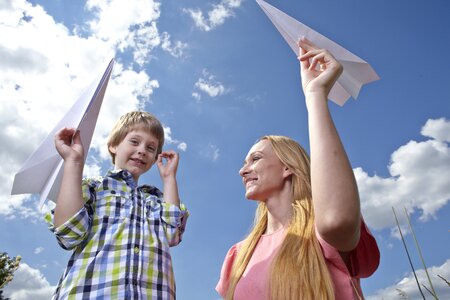
<instances>
[{"instance_id":1,"label":"boy's hand gripping the white paper airplane","mask_svg":"<svg viewBox=\"0 0 450 300\"><path fill-rule=\"evenodd\" d=\"M59 130L55 134L55 147L65 162L83 162L84 149L81 143L80 131L75 128L64 127Z\"/></svg>"}]
</instances>

